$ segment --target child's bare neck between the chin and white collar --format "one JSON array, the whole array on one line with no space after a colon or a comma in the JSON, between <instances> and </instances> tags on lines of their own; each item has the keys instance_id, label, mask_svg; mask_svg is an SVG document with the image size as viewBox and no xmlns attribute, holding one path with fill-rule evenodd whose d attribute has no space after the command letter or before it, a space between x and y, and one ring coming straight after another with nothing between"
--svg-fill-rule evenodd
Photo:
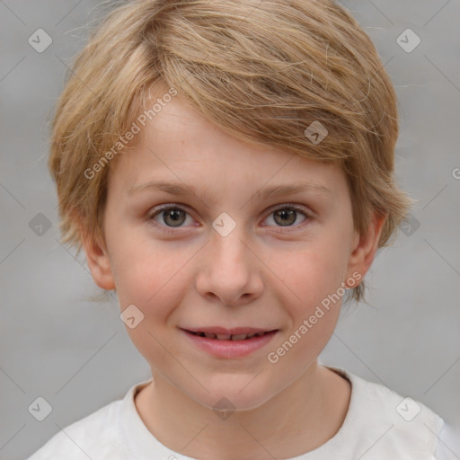
<instances>
[{"instance_id":1,"label":"child's bare neck between the chin and white collar","mask_svg":"<svg viewBox=\"0 0 460 460\"><path fill-rule=\"evenodd\" d=\"M322 446L341 428L349 395L349 382L315 361L266 403L228 417L218 417L157 374L137 394L136 405L155 438L183 456L265 460Z\"/></svg>"}]
</instances>

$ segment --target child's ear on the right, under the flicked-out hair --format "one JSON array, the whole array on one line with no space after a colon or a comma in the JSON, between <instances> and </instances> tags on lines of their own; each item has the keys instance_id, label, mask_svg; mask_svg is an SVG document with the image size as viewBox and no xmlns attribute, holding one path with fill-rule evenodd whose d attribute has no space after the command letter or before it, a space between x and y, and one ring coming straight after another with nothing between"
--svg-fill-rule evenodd
<instances>
[{"instance_id":1,"label":"child's ear on the right, under the flicked-out hair","mask_svg":"<svg viewBox=\"0 0 460 460\"><path fill-rule=\"evenodd\" d=\"M358 272L361 275L360 279L364 279L367 270L369 270L372 262L374 261L374 256L376 255L385 219L385 215L377 214L375 212L369 226L367 227L367 232L365 234L355 233L355 239L349 255L349 265L346 271L346 279L351 277L355 272Z\"/></svg>"}]
</instances>

